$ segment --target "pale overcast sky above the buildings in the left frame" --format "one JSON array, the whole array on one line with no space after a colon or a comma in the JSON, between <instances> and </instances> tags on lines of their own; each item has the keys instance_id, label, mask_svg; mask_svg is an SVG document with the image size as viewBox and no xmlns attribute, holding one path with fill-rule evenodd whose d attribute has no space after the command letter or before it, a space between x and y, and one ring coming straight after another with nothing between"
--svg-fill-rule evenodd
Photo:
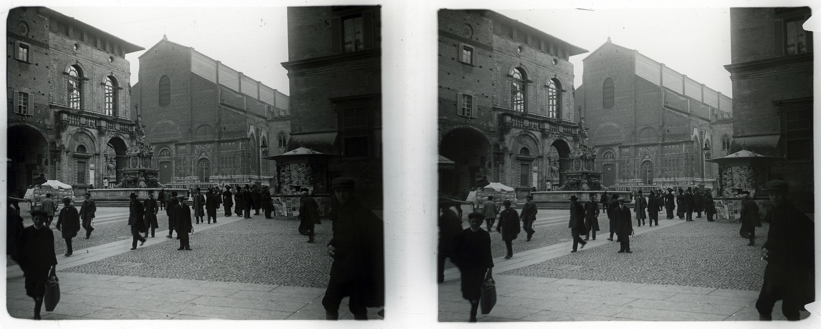
<instances>
[{"instance_id":1,"label":"pale overcast sky above the buildings in the left frame","mask_svg":"<svg viewBox=\"0 0 821 329\"><path fill-rule=\"evenodd\" d=\"M55 11L149 49L163 39L195 48L273 89L288 92L285 7L58 7ZM126 54L131 85L145 51Z\"/></svg>"}]
</instances>

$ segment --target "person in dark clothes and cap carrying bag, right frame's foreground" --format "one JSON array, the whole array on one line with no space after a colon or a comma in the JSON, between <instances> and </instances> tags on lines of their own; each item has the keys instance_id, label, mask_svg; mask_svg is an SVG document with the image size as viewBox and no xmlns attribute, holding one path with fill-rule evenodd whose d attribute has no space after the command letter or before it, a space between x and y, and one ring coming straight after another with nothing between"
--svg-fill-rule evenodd
<instances>
[{"instance_id":1,"label":"person in dark clothes and cap carrying bag, right frame's foreground","mask_svg":"<svg viewBox=\"0 0 821 329\"><path fill-rule=\"evenodd\" d=\"M509 207L509 206L508 206ZM461 272L462 297L470 300L470 322L476 322L482 284L491 276L493 256L490 254L490 233L482 230L484 214L473 212L468 215L470 227L456 235L452 259ZM516 217L518 226L518 217Z\"/></svg>"}]
</instances>

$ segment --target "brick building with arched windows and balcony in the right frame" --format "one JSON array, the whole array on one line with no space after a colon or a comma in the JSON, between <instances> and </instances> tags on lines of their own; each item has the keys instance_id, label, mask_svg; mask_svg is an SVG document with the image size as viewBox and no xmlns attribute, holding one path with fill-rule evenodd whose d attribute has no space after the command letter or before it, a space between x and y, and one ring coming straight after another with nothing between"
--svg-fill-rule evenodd
<instances>
[{"instance_id":1,"label":"brick building with arched windows and balcony in the right frame","mask_svg":"<svg viewBox=\"0 0 821 329\"><path fill-rule=\"evenodd\" d=\"M519 194L556 188L579 148L573 65L585 49L494 11L438 13L439 190L464 199L477 180Z\"/></svg>"}]
</instances>

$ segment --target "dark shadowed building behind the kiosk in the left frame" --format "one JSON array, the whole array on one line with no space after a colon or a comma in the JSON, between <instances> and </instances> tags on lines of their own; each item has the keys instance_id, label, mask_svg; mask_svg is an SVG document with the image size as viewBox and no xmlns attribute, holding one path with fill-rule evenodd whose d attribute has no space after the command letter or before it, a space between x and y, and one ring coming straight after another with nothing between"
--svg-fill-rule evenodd
<instances>
[{"instance_id":1,"label":"dark shadowed building behind the kiosk in the left frame","mask_svg":"<svg viewBox=\"0 0 821 329\"><path fill-rule=\"evenodd\" d=\"M327 180L348 176L365 206L383 208L380 7L288 7L291 139L337 157ZM279 171L287 171L279 168Z\"/></svg>"}]
</instances>

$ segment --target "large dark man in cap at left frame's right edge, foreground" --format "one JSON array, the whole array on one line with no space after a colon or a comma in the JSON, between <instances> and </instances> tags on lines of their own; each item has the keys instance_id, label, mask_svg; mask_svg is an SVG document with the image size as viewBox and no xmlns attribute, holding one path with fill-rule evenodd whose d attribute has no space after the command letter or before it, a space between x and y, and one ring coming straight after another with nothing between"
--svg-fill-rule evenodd
<instances>
[{"instance_id":1,"label":"large dark man in cap at left frame's right edge, foreground","mask_svg":"<svg viewBox=\"0 0 821 329\"><path fill-rule=\"evenodd\" d=\"M367 307L384 306L385 270L382 220L354 196L354 180L338 177L331 182L333 238L328 255L333 257L330 281L322 305L325 318L339 318L342 298L357 320L366 320Z\"/></svg>"}]
</instances>

